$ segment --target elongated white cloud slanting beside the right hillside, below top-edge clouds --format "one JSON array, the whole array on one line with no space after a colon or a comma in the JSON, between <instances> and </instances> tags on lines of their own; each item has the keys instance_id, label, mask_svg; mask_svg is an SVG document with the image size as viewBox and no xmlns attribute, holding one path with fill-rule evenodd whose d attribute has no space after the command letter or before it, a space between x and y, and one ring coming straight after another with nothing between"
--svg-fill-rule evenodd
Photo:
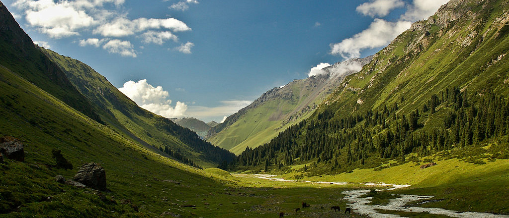
<instances>
[{"instance_id":1,"label":"elongated white cloud slanting beside the right hillside, below top-edge clouds","mask_svg":"<svg viewBox=\"0 0 509 218\"><path fill-rule=\"evenodd\" d=\"M376 18L367 29L355 34L352 38L332 44L330 53L339 54L343 58L359 57L360 51L363 49L386 46L391 40L410 28L411 24L412 22L409 21L389 22Z\"/></svg>"}]
</instances>

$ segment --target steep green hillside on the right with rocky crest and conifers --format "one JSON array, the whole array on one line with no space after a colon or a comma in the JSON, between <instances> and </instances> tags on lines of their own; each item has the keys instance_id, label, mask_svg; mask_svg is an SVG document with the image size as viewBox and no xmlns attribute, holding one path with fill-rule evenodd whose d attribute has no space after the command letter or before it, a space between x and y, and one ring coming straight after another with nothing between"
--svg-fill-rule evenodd
<instances>
[{"instance_id":1,"label":"steep green hillside on the right with rocky crest and conifers","mask_svg":"<svg viewBox=\"0 0 509 218\"><path fill-rule=\"evenodd\" d=\"M476 164L508 158L507 4L449 2L347 77L312 117L243 152L237 166L310 163L310 174L323 174L440 152Z\"/></svg>"}]
</instances>

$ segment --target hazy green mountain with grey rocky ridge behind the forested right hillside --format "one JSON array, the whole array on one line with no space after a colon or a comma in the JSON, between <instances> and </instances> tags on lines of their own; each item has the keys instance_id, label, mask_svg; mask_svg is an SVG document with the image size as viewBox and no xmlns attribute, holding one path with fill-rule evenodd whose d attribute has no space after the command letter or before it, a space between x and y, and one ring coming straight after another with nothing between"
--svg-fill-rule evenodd
<instances>
[{"instance_id":1,"label":"hazy green mountain with grey rocky ridge behind the forested right hillside","mask_svg":"<svg viewBox=\"0 0 509 218\"><path fill-rule=\"evenodd\" d=\"M324 68L322 74L273 88L210 129L206 139L235 154L247 147L260 146L311 115L346 76L360 70L371 59L370 56L338 62Z\"/></svg>"}]
</instances>

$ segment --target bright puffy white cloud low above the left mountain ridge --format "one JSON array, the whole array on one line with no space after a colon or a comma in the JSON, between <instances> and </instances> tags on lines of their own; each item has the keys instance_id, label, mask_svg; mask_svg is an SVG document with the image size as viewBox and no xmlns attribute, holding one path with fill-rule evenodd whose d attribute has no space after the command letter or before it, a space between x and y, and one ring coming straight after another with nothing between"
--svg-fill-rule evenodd
<instances>
[{"instance_id":1,"label":"bright puffy white cloud low above the left mountain ridge","mask_svg":"<svg viewBox=\"0 0 509 218\"><path fill-rule=\"evenodd\" d=\"M183 117L187 110L187 105L180 101L172 106L168 92L161 86L150 85L147 80L128 81L119 90L140 107L166 118Z\"/></svg>"}]
</instances>

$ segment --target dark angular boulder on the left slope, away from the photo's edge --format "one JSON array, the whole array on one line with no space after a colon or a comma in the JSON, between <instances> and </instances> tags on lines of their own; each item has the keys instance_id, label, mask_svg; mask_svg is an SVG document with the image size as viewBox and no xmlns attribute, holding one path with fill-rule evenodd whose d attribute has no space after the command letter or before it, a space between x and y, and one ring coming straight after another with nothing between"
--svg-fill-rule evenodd
<instances>
[{"instance_id":1,"label":"dark angular boulder on the left slope, away from the photo's edge","mask_svg":"<svg viewBox=\"0 0 509 218\"><path fill-rule=\"evenodd\" d=\"M106 171L95 162L83 164L72 179L93 189L106 190Z\"/></svg>"}]
</instances>

